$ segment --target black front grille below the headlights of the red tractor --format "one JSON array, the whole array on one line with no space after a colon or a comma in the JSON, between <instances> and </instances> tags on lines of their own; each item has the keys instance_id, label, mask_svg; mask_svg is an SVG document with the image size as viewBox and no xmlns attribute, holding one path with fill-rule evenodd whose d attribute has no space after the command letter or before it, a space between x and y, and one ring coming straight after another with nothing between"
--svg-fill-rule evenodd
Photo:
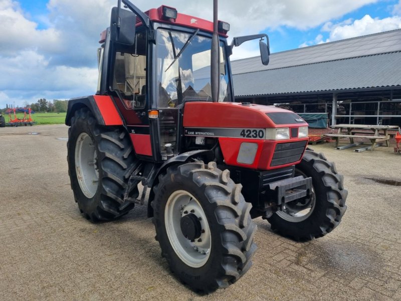
<instances>
[{"instance_id":1,"label":"black front grille below the headlights of the red tractor","mask_svg":"<svg viewBox=\"0 0 401 301\"><path fill-rule=\"evenodd\" d=\"M304 152L305 141L279 143L274 149L271 167L297 162Z\"/></svg>"}]
</instances>

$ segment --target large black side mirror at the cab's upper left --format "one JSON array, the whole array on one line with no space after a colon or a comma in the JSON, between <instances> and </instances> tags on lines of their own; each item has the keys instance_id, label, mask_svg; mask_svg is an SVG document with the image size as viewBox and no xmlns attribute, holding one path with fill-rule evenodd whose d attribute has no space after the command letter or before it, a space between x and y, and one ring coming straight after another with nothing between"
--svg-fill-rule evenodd
<instances>
[{"instance_id":1,"label":"large black side mirror at the cab's upper left","mask_svg":"<svg viewBox=\"0 0 401 301\"><path fill-rule=\"evenodd\" d=\"M119 8L111 9L110 39L114 43L134 45L136 16Z\"/></svg>"}]
</instances>

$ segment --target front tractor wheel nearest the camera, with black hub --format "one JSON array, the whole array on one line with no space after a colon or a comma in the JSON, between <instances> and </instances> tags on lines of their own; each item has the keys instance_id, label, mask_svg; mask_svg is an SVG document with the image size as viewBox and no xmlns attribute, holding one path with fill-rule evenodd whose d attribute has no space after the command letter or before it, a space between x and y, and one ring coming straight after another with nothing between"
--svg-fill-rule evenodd
<instances>
[{"instance_id":1,"label":"front tractor wheel nearest the camera, with black hub","mask_svg":"<svg viewBox=\"0 0 401 301\"><path fill-rule=\"evenodd\" d=\"M154 192L153 223L162 255L191 289L209 293L227 287L251 267L252 205L229 171L213 162L170 167Z\"/></svg>"}]
</instances>

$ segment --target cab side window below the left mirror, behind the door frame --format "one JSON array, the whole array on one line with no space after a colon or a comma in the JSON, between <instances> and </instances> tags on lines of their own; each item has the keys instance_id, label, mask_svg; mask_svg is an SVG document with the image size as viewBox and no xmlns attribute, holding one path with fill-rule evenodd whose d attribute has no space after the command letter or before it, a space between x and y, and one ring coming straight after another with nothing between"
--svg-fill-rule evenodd
<instances>
[{"instance_id":1,"label":"cab side window below the left mirror, behind the door frame","mask_svg":"<svg viewBox=\"0 0 401 301\"><path fill-rule=\"evenodd\" d=\"M120 92L128 109L146 105L146 40L146 32L138 32L129 50L116 53L113 90Z\"/></svg>"}]
</instances>

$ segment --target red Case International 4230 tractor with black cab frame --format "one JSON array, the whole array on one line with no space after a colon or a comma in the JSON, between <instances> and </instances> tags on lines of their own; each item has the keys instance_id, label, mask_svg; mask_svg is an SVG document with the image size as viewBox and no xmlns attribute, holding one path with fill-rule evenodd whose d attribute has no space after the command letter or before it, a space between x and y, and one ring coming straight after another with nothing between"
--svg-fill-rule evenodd
<instances>
[{"instance_id":1,"label":"red Case International 4230 tractor with black cab frame","mask_svg":"<svg viewBox=\"0 0 401 301\"><path fill-rule=\"evenodd\" d=\"M305 241L345 212L343 177L307 149L296 113L234 102L230 25L128 0L101 34L95 95L69 101L68 165L75 201L91 221L147 202L162 256L195 291L227 287L252 265L256 225ZM138 189L142 184L143 188ZM140 187L142 187L140 186Z\"/></svg>"}]
</instances>

